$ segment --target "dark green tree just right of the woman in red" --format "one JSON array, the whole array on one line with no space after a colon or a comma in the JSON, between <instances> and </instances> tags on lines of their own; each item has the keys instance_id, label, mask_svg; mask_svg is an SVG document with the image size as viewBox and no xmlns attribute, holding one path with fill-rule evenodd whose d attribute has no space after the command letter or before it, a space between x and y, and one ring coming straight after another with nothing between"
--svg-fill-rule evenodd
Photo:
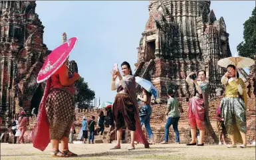
<instances>
[{"instance_id":1,"label":"dark green tree just right of the woman in red","mask_svg":"<svg viewBox=\"0 0 256 160\"><path fill-rule=\"evenodd\" d=\"M94 99L95 93L88 88L88 84L84 82L84 78L79 78L75 82L76 86L76 98L74 102L78 108L88 108L90 102Z\"/></svg>"}]
</instances>

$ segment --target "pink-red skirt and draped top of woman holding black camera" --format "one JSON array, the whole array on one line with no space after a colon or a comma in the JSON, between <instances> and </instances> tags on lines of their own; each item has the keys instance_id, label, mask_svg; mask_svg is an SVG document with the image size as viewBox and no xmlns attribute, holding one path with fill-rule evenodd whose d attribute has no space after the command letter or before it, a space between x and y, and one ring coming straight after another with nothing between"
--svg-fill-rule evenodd
<instances>
[{"instance_id":1,"label":"pink-red skirt and draped top of woman holding black camera","mask_svg":"<svg viewBox=\"0 0 256 160\"><path fill-rule=\"evenodd\" d=\"M190 86L193 86L193 80L186 78L186 81ZM195 94L188 102L188 120L190 127L199 130L205 129L205 108L208 108L208 94L209 94L209 83L198 82L198 86L193 86Z\"/></svg>"}]
</instances>

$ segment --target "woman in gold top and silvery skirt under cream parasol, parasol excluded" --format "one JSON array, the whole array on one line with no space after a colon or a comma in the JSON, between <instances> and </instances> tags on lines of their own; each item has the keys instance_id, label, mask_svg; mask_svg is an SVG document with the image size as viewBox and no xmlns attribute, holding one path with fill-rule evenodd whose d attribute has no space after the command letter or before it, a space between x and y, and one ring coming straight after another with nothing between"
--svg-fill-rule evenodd
<instances>
[{"instance_id":1,"label":"woman in gold top and silvery skirt under cream parasol, parasol excluded","mask_svg":"<svg viewBox=\"0 0 256 160\"><path fill-rule=\"evenodd\" d=\"M225 85L224 97L221 100L221 116L231 139L232 144L228 148L237 147L235 141L243 143L240 147L246 147L246 106L247 92L245 83L237 72L235 78L235 66L227 66L227 72L221 78Z\"/></svg>"}]
</instances>

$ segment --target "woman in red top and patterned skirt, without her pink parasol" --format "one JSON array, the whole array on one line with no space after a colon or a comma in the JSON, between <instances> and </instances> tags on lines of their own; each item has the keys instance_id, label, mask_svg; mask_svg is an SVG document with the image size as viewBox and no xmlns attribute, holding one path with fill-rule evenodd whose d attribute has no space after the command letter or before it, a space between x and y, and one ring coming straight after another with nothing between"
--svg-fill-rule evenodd
<instances>
[{"instance_id":1,"label":"woman in red top and patterned skirt, without her pink parasol","mask_svg":"<svg viewBox=\"0 0 256 160\"><path fill-rule=\"evenodd\" d=\"M35 125L32 133L34 147L41 150L45 149L50 137L53 149L51 155L53 157L77 156L68 150L68 135L74 117L73 84L80 76L74 73L70 78L66 66L67 61L68 58L59 70L47 80L39 107L38 124ZM45 121L49 121L49 123ZM46 135L45 131L49 131L50 135ZM61 141L62 151L59 151L59 141Z\"/></svg>"}]
</instances>

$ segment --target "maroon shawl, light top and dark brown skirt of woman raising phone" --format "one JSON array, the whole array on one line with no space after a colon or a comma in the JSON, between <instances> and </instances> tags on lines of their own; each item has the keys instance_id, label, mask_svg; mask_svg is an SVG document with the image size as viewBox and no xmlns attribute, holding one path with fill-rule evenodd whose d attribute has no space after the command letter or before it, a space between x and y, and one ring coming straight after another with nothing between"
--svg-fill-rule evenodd
<instances>
[{"instance_id":1,"label":"maroon shawl, light top and dark brown skirt of woman raising phone","mask_svg":"<svg viewBox=\"0 0 256 160\"><path fill-rule=\"evenodd\" d=\"M135 131L135 140L143 143L145 147L149 147L149 143L140 125L134 76L124 76L118 83L113 81L111 90L117 90L118 92L112 104L112 114L116 123L116 129L120 129L126 124L128 129Z\"/></svg>"}]
</instances>

